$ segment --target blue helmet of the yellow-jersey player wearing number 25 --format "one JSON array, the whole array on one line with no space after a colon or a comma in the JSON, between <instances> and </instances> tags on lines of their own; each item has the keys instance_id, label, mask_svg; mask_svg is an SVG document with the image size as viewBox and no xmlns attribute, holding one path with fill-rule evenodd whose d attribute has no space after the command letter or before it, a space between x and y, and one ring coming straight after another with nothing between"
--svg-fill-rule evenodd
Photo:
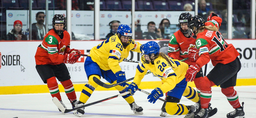
<instances>
[{"instance_id":1,"label":"blue helmet of the yellow-jersey player wearing number 25","mask_svg":"<svg viewBox=\"0 0 256 118\"><path fill-rule=\"evenodd\" d=\"M117 36L121 40L124 47L127 47L131 43L132 30L128 25L120 25L117 29Z\"/></svg>"}]
</instances>

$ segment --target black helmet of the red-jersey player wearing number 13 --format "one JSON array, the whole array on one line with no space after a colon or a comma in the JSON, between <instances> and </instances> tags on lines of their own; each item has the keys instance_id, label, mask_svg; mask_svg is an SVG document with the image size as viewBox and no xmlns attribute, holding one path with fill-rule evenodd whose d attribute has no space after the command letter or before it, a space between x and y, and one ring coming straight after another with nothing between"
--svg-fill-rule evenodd
<instances>
[{"instance_id":1,"label":"black helmet of the red-jersey player wearing number 13","mask_svg":"<svg viewBox=\"0 0 256 118\"><path fill-rule=\"evenodd\" d=\"M201 16L196 15L188 19L189 36L196 39L196 33L198 32L199 27L202 27L202 26L204 26L204 19Z\"/></svg>"}]
</instances>

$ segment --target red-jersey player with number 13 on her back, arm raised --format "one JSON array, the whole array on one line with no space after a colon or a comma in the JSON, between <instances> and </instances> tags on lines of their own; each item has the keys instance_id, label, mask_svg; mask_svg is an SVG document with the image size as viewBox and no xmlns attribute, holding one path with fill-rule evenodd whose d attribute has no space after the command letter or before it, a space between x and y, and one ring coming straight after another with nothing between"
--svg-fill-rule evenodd
<instances>
[{"instance_id":1,"label":"red-jersey player with number 13 on her back, arm raised","mask_svg":"<svg viewBox=\"0 0 256 118\"><path fill-rule=\"evenodd\" d=\"M235 108L227 114L227 118L245 118L244 102L240 105L238 93L234 90L237 72L241 69L238 58L239 53L232 44L228 44L221 36L219 27L222 19L212 13L207 22L201 16L188 19L188 33L196 39L196 48L199 49L199 58L196 63L191 64L187 70L187 81L195 79L200 68L207 64L210 59L214 68L199 82L201 91L199 109L195 112L195 118L207 118L208 104L211 101L211 87L214 85L221 88L221 92L227 97L230 105Z\"/></svg>"}]
</instances>

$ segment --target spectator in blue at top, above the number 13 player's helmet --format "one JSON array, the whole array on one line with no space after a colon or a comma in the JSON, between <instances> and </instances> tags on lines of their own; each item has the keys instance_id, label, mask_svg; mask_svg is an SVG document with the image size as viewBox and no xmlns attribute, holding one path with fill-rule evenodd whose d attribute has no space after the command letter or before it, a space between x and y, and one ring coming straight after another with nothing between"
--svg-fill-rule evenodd
<instances>
[{"instance_id":1,"label":"spectator in blue at top, above the number 13 player's helmet","mask_svg":"<svg viewBox=\"0 0 256 118\"><path fill-rule=\"evenodd\" d=\"M203 19L207 19L209 8L206 8L206 1L205 0L198 0L198 15L201 16Z\"/></svg>"}]
</instances>

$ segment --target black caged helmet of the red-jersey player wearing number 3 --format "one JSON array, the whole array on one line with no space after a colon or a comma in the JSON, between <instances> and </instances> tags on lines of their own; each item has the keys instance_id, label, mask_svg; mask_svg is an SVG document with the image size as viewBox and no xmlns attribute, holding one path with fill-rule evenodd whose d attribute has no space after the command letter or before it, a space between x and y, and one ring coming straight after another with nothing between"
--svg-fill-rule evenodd
<instances>
[{"instance_id":1,"label":"black caged helmet of the red-jersey player wearing number 3","mask_svg":"<svg viewBox=\"0 0 256 118\"><path fill-rule=\"evenodd\" d=\"M56 30L55 24L63 24L64 27L62 30ZM66 30L66 19L62 14L55 14L52 18L52 28L56 33L63 33Z\"/></svg>"}]
</instances>

